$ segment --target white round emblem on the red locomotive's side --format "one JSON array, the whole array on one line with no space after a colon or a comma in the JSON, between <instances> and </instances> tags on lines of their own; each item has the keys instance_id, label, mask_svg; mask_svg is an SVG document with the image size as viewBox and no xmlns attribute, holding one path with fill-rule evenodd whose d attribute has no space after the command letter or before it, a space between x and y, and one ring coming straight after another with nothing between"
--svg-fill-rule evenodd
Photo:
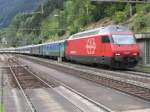
<instances>
[{"instance_id":1,"label":"white round emblem on the red locomotive's side","mask_svg":"<svg viewBox=\"0 0 150 112\"><path fill-rule=\"evenodd\" d=\"M95 43L95 39L94 38L91 38L91 39L87 40L86 49L87 49L87 53L88 54L95 54L96 43Z\"/></svg>"}]
</instances>

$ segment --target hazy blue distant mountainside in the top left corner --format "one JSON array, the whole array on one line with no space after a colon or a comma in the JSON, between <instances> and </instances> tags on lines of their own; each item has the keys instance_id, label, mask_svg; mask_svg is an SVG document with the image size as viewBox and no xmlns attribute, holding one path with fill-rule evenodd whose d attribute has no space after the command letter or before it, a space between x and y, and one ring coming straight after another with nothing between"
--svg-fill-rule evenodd
<instances>
[{"instance_id":1,"label":"hazy blue distant mountainside in the top left corner","mask_svg":"<svg viewBox=\"0 0 150 112\"><path fill-rule=\"evenodd\" d=\"M42 0L43 3L46 0ZM39 7L38 0L0 0L0 29L7 27L18 12L31 12Z\"/></svg>"}]
</instances>

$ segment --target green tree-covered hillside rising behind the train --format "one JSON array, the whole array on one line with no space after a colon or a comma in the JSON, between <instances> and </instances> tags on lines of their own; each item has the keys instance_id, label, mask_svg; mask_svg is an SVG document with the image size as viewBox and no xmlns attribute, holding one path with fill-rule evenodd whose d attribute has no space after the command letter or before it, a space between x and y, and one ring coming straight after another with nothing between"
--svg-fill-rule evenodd
<instances>
[{"instance_id":1,"label":"green tree-covered hillside rising behind the train","mask_svg":"<svg viewBox=\"0 0 150 112\"><path fill-rule=\"evenodd\" d=\"M112 24L127 24L134 32L150 31L150 4L102 3L90 0L49 0L43 13L17 14L11 24L0 31L6 46L40 44L67 38L90 24L108 19ZM40 11L39 8L37 11Z\"/></svg>"}]
</instances>

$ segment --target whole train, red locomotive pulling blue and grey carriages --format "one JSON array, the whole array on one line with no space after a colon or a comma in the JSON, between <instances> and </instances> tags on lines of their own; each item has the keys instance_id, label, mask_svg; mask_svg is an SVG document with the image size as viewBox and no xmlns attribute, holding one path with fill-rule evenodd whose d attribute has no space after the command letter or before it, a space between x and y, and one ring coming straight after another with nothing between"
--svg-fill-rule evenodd
<instances>
[{"instance_id":1,"label":"whole train, red locomotive pulling blue and grey carriages","mask_svg":"<svg viewBox=\"0 0 150 112\"><path fill-rule=\"evenodd\" d=\"M140 49L134 34L128 28L119 25L79 32L66 40L10 48L5 51L61 57L79 63L107 65L114 68L135 67L140 59Z\"/></svg>"}]
</instances>

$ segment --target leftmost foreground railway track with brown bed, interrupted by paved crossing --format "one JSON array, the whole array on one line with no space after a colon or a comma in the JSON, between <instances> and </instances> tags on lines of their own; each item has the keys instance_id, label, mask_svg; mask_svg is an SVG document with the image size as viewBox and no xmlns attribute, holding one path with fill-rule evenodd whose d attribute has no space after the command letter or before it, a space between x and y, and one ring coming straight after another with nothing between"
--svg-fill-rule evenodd
<instances>
[{"instance_id":1,"label":"leftmost foreground railway track with brown bed, interrupted by paved crossing","mask_svg":"<svg viewBox=\"0 0 150 112\"><path fill-rule=\"evenodd\" d=\"M85 95L75 91L71 87L65 85L64 83L62 83L62 82L60 82L54 78L53 78L52 82L51 81L45 81L44 79L40 78L35 73L33 73L31 70L29 70L26 66L20 65L14 59L9 59L9 66L10 66L10 71L13 74L14 80L16 82L16 86L18 86L19 89L22 91L22 94L23 94L27 104L29 105L31 112L38 112L38 110L34 107L32 102L30 101L30 98L26 94L25 89L32 89L32 88L39 88L39 87L40 88L41 87L54 88L55 86L58 86L58 85L61 85L65 88L67 88L68 90L72 91L73 93L81 96L82 98L86 99L87 101L89 101L92 104L96 105L97 107L101 108L103 110L103 112L113 112L109 108L91 100L90 98L86 97ZM72 103L72 102L70 102L70 103ZM75 107L78 108L81 112L85 112L84 110L80 109L76 105L75 105Z\"/></svg>"}]
</instances>

